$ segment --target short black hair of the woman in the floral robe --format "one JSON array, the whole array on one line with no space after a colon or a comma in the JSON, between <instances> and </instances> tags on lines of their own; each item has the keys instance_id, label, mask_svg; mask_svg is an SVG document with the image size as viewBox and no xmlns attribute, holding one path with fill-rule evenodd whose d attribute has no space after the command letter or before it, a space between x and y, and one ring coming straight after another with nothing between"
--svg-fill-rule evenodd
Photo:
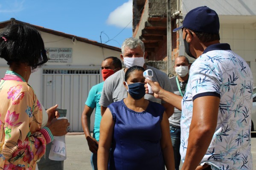
<instances>
[{"instance_id":1,"label":"short black hair of the woman in the floral robe","mask_svg":"<svg viewBox=\"0 0 256 170\"><path fill-rule=\"evenodd\" d=\"M8 65L27 63L37 68L48 61L44 41L37 29L25 23L13 23L0 34L0 57Z\"/></svg>"}]
</instances>

